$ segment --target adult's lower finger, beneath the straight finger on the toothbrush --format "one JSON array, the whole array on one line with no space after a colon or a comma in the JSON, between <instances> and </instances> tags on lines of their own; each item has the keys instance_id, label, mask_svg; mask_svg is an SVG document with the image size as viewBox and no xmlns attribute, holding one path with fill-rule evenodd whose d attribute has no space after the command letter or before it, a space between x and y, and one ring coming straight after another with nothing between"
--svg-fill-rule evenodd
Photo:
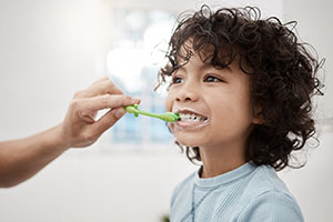
<instances>
[{"instance_id":1,"label":"adult's lower finger, beneath the straight finger on the toothbrush","mask_svg":"<svg viewBox=\"0 0 333 222\"><path fill-rule=\"evenodd\" d=\"M91 125L91 130L100 135L109 128L111 128L124 114L125 110L123 108L115 108L113 110L110 110Z\"/></svg>"}]
</instances>

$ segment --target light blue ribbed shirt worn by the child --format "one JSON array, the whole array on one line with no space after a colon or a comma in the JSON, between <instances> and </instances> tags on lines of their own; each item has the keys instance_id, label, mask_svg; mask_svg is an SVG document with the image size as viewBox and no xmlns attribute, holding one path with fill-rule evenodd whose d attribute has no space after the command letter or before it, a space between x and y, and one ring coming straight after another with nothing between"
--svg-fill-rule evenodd
<instances>
[{"instance_id":1,"label":"light blue ribbed shirt worn by the child","mask_svg":"<svg viewBox=\"0 0 333 222\"><path fill-rule=\"evenodd\" d=\"M250 162L215 178L192 173L173 191L171 222L303 222L302 212L271 167Z\"/></svg>"}]
</instances>

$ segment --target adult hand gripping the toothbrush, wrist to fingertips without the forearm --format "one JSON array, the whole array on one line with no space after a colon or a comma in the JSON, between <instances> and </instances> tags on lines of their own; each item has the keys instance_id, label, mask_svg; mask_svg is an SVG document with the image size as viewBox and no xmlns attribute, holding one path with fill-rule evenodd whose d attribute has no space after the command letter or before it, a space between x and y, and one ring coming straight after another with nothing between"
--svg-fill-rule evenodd
<instances>
[{"instance_id":1,"label":"adult hand gripping the toothbrush, wrist to fingertips without the forearm","mask_svg":"<svg viewBox=\"0 0 333 222\"><path fill-rule=\"evenodd\" d=\"M137 103L140 103L140 99L124 95L108 77L78 91L60 125L63 147L82 148L94 143L125 113L124 105ZM97 112L103 109L110 110L99 120L94 120Z\"/></svg>"}]
</instances>

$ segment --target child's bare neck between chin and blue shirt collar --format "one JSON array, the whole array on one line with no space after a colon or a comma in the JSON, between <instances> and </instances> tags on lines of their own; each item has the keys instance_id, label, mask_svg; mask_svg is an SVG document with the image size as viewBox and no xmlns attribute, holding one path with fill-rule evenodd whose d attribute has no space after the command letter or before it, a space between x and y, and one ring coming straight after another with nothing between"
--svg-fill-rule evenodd
<instances>
[{"instance_id":1,"label":"child's bare neck between chin and blue shirt collar","mask_svg":"<svg viewBox=\"0 0 333 222\"><path fill-rule=\"evenodd\" d=\"M213 178L232 171L246 162L244 149L200 148L203 168L201 178Z\"/></svg>"}]
</instances>

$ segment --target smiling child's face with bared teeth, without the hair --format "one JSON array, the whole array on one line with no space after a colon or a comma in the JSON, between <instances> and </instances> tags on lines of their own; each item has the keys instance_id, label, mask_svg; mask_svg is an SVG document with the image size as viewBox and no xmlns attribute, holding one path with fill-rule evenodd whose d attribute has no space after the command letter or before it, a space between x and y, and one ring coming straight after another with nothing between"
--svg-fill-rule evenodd
<instances>
[{"instance_id":1,"label":"smiling child's face with bared teeth, without the hair","mask_svg":"<svg viewBox=\"0 0 333 222\"><path fill-rule=\"evenodd\" d=\"M235 63L216 70L194 57L172 74L165 108L181 121L169 123L188 147L244 148L254 122L249 77Z\"/></svg>"}]
</instances>

